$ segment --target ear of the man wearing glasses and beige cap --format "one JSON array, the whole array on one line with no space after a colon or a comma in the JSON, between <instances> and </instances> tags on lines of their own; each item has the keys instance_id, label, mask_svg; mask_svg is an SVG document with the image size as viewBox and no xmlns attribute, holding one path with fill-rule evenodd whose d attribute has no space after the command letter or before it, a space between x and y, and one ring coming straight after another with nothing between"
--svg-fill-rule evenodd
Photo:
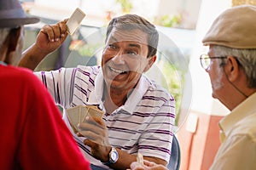
<instances>
[{"instance_id":1,"label":"ear of the man wearing glasses and beige cap","mask_svg":"<svg viewBox=\"0 0 256 170\"><path fill-rule=\"evenodd\" d=\"M224 69L230 82L235 82L241 71L237 59L233 56L227 57L227 64L224 65Z\"/></svg>"}]
</instances>

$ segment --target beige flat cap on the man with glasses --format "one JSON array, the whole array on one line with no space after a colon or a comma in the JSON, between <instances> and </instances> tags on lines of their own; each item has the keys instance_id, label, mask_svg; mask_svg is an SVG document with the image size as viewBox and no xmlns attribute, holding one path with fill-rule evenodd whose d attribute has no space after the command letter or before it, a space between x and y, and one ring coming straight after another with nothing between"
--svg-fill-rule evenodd
<instances>
[{"instance_id":1,"label":"beige flat cap on the man with glasses","mask_svg":"<svg viewBox=\"0 0 256 170\"><path fill-rule=\"evenodd\" d=\"M225 10L213 21L204 45L256 48L256 6L240 5Z\"/></svg>"}]
</instances>

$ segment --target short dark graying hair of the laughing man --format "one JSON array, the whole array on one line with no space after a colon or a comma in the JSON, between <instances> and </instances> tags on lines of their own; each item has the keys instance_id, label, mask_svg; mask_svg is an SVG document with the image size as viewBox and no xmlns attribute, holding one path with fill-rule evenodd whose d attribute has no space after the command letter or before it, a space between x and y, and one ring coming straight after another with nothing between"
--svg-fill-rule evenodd
<instances>
[{"instance_id":1,"label":"short dark graying hair of the laughing man","mask_svg":"<svg viewBox=\"0 0 256 170\"><path fill-rule=\"evenodd\" d=\"M125 30L132 31L135 29L141 30L148 35L148 57L156 54L158 41L159 41L159 33L156 30L155 26L151 24L148 20L144 19L137 14L125 14L116 18L113 18L108 24L107 29L107 37L109 34L116 28L117 30Z\"/></svg>"}]
</instances>

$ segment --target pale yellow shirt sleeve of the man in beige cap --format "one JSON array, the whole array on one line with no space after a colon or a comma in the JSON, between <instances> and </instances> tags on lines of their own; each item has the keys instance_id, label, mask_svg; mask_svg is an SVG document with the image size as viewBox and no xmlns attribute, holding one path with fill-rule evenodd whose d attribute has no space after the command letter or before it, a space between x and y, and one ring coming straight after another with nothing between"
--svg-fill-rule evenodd
<instances>
[{"instance_id":1,"label":"pale yellow shirt sleeve of the man in beige cap","mask_svg":"<svg viewBox=\"0 0 256 170\"><path fill-rule=\"evenodd\" d=\"M256 169L256 141L248 134L236 134L220 146L211 170Z\"/></svg>"}]
</instances>

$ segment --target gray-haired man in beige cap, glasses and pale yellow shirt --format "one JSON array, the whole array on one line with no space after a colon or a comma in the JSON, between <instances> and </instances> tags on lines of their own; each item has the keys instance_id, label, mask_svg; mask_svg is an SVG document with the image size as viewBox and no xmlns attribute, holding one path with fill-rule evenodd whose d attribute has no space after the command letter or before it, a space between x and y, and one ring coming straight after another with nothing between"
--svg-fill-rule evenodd
<instances>
[{"instance_id":1,"label":"gray-haired man in beige cap, glasses and pale yellow shirt","mask_svg":"<svg viewBox=\"0 0 256 170\"><path fill-rule=\"evenodd\" d=\"M221 146L211 169L256 169L256 7L229 8L203 38L201 65L212 97L231 112L219 122Z\"/></svg>"}]
</instances>

